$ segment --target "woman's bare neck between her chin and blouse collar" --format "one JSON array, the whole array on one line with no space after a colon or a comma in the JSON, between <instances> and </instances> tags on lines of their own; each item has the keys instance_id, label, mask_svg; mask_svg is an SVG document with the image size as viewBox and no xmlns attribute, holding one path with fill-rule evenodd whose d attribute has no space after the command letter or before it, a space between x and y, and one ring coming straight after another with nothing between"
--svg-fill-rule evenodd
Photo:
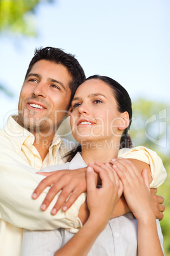
<instances>
[{"instance_id":1,"label":"woman's bare neck between her chin and blouse collar","mask_svg":"<svg viewBox=\"0 0 170 256\"><path fill-rule=\"evenodd\" d=\"M99 144L86 144L82 145L82 158L84 162L88 164L89 162L94 163L96 160L102 163L110 162L110 160L117 158L119 152L119 147L115 148L112 143L105 145Z\"/></svg>"}]
</instances>

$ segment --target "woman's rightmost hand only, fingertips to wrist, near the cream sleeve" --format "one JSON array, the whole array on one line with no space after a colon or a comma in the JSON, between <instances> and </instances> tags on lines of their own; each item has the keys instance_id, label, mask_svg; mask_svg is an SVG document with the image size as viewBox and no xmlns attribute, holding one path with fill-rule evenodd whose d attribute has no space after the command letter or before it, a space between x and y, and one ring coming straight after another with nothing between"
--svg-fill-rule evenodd
<instances>
[{"instance_id":1,"label":"woman's rightmost hand only, fingertips to wrist, near the cream sleeve","mask_svg":"<svg viewBox=\"0 0 170 256\"><path fill-rule=\"evenodd\" d=\"M112 163L124 185L124 197L134 217L145 218L148 211L152 210L147 169L140 174L138 168L127 159L115 160Z\"/></svg>"}]
</instances>

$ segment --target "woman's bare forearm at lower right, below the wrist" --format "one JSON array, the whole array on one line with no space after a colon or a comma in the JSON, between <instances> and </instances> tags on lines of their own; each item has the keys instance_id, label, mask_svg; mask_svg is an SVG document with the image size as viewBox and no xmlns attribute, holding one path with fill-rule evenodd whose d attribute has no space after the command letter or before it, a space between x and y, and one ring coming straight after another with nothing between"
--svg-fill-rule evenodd
<instances>
[{"instance_id":1,"label":"woman's bare forearm at lower right, below the wrist","mask_svg":"<svg viewBox=\"0 0 170 256\"><path fill-rule=\"evenodd\" d=\"M148 211L147 216L138 220L138 255L162 256L155 215Z\"/></svg>"}]
</instances>

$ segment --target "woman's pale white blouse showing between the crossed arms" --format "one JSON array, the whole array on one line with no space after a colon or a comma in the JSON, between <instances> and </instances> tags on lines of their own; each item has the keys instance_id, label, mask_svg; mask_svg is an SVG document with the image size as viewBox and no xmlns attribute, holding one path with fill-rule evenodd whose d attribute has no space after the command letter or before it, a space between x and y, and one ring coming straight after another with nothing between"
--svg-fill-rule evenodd
<instances>
[{"instance_id":1,"label":"woman's pale white blouse showing between the crossed arms","mask_svg":"<svg viewBox=\"0 0 170 256\"><path fill-rule=\"evenodd\" d=\"M44 171L47 171L47 169L48 171L53 171L56 169L77 169L85 166L86 163L82 159L81 154L77 153L71 162L58 166L49 166L44 168ZM86 196L86 193L83 194ZM159 220L157 220L157 231L162 246L163 236L160 229ZM23 230L22 256L52 256L59 248L65 245L65 243L67 243L72 236L74 236L73 232L76 231L74 229L70 230L70 232L66 229L57 229L54 231ZM104 231L98 236L88 253L88 256L103 255L138 255L137 220L133 217L132 213L111 219Z\"/></svg>"}]
</instances>

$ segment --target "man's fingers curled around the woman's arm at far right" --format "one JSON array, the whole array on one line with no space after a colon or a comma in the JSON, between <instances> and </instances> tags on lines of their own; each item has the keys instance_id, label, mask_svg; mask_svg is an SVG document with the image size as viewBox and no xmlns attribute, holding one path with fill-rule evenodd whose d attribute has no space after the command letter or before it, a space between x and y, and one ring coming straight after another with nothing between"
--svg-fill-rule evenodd
<instances>
[{"instance_id":1,"label":"man's fingers curled around the woman's arm at far right","mask_svg":"<svg viewBox=\"0 0 170 256\"><path fill-rule=\"evenodd\" d=\"M150 200L152 204L152 208L155 213L155 217L159 220L162 220L164 217L164 210L166 209L165 206L162 204L164 203L164 197L157 196L157 188L150 188Z\"/></svg>"}]
</instances>

